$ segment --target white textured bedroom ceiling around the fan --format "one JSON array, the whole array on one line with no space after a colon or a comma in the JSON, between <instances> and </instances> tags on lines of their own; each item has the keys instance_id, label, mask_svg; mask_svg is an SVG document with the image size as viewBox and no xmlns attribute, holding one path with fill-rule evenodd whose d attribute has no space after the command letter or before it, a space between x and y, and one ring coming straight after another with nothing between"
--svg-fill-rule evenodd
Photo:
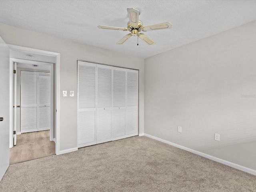
<instances>
[{"instance_id":1,"label":"white textured bedroom ceiling around the fan","mask_svg":"<svg viewBox=\"0 0 256 192\"><path fill-rule=\"evenodd\" d=\"M127 27L127 8L140 10L144 26L171 22L172 28L144 32L116 45L128 32L98 25ZM147 58L256 20L255 0L1 0L0 23Z\"/></svg>"}]
</instances>

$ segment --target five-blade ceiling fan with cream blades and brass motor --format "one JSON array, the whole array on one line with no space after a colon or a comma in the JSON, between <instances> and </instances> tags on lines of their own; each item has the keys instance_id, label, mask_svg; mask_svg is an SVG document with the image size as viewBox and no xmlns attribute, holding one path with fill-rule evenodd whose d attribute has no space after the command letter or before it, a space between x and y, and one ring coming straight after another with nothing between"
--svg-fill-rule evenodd
<instances>
[{"instance_id":1,"label":"five-blade ceiling fan with cream blades and brass motor","mask_svg":"<svg viewBox=\"0 0 256 192\"><path fill-rule=\"evenodd\" d=\"M146 44L149 46L156 44L154 40L149 38L148 36L140 33L141 31L152 31L152 30L160 30L160 29L168 29L172 27L170 22L159 23L154 25L149 25L144 27L141 20L139 20L140 11L134 8L127 8L129 22L127 23L127 28L120 28L120 27L111 27L111 26L103 26L99 25L98 28L100 29L112 29L112 30L122 30L122 31L130 31L126 36L124 36L120 41L116 44L122 45L126 40L128 40L131 36L137 36L142 39ZM138 44L137 44L138 45Z\"/></svg>"}]
</instances>

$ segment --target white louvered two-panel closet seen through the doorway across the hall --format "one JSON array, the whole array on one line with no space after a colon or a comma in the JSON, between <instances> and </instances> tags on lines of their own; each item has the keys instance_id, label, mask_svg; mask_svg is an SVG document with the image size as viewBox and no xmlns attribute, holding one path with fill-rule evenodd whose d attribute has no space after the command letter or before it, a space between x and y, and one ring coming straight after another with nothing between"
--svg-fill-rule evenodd
<instances>
[{"instance_id":1,"label":"white louvered two-panel closet seen through the doorway across the hall","mask_svg":"<svg viewBox=\"0 0 256 192\"><path fill-rule=\"evenodd\" d=\"M50 129L50 74L21 71L20 132Z\"/></svg>"}]
</instances>

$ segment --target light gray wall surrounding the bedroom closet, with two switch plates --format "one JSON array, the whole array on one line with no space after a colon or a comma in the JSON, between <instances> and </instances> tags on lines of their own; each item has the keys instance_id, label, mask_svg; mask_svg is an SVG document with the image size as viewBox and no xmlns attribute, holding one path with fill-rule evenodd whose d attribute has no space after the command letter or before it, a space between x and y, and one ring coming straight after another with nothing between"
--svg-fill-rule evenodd
<instances>
[{"instance_id":1,"label":"light gray wall surrounding the bedroom closet, with two switch plates","mask_svg":"<svg viewBox=\"0 0 256 192\"><path fill-rule=\"evenodd\" d=\"M77 59L139 70L139 133L144 132L143 58L4 24L0 24L0 36L7 44L60 53L60 91L75 91L74 97L60 97L60 150L77 147Z\"/></svg>"}]
</instances>

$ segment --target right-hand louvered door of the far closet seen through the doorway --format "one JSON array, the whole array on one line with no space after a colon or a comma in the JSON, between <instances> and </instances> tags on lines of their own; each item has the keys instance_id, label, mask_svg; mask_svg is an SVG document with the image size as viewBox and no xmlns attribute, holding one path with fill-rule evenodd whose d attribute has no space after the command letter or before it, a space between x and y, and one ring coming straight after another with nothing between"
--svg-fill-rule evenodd
<instances>
[{"instance_id":1,"label":"right-hand louvered door of the far closet seen through the doorway","mask_svg":"<svg viewBox=\"0 0 256 192\"><path fill-rule=\"evenodd\" d=\"M50 73L38 73L38 131L50 130Z\"/></svg>"}]
</instances>

